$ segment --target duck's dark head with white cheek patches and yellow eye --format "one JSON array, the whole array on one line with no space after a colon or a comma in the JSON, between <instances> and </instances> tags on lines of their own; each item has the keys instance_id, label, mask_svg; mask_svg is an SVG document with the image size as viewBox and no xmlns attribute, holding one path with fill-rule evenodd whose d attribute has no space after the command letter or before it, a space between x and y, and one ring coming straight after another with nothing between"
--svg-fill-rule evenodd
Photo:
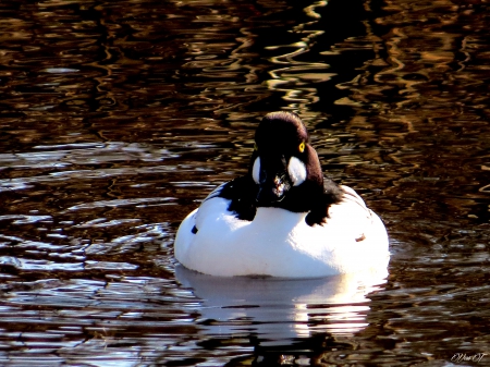
<instances>
[{"instance_id":1,"label":"duck's dark head with white cheek patches and yellow eye","mask_svg":"<svg viewBox=\"0 0 490 367\"><path fill-rule=\"evenodd\" d=\"M249 174L257 206L309 211L323 194L323 174L308 132L297 114L267 114L255 134Z\"/></svg>"}]
</instances>

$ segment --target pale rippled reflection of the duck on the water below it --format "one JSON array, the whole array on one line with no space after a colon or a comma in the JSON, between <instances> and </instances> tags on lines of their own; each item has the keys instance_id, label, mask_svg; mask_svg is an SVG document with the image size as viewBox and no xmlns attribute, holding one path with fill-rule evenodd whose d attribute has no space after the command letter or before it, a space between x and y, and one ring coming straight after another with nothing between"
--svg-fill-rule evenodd
<instances>
[{"instance_id":1,"label":"pale rippled reflection of the duck on the water below it","mask_svg":"<svg viewBox=\"0 0 490 367\"><path fill-rule=\"evenodd\" d=\"M314 334L352 335L366 328L366 294L385 283L380 273L316 279L211 277L183 266L175 276L203 299L203 334L255 335L261 346L291 345ZM306 341L306 340L305 340Z\"/></svg>"}]
</instances>

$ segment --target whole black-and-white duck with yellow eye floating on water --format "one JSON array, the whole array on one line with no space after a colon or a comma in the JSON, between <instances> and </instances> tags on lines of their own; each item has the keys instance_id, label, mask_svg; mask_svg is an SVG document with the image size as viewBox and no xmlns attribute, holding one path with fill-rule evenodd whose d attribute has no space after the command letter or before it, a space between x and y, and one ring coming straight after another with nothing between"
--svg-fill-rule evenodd
<instances>
[{"instance_id":1,"label":"whole black-and-white duck with yellow eye floating on water","mask_svg":"<svg viewBox=\"0 0 490 367\"><path fill-rule=\"evenodd\" d=\"M174 257L217 277L322 278L387 269L387 229L351 187L323 176L299 115L270 112L248 172L180 224Z\"/></svg>"}]
</instances>

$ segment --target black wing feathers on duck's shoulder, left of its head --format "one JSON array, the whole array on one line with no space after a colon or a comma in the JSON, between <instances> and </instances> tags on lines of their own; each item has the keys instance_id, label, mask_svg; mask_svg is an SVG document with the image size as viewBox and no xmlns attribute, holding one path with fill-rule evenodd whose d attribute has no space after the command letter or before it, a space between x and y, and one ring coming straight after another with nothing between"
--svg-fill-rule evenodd
<instances>
[{"instance_id":1,"label":"black wing feathers on duck's shoulder, left of its head","mask_svg":"<svg viewBox=\"0 0 490 367\"><path fill-rule=\"evenodd\" d=\"M252 221L257 211L256 197L258 185L248 175L236 178L215 188L203 201L221 197L230 200L228 210L236 218Z\"/></svg>"}]
</instances>

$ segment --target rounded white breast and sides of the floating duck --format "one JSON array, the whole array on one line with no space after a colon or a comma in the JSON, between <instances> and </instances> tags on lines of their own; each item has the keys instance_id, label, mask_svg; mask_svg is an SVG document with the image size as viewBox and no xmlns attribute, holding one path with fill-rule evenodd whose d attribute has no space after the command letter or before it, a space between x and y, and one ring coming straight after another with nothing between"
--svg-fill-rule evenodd
<instances>
[{"instance_id":1,"label":"rounded white breast and sides of the floating duck","mask_svg":"<svg viewBox=\"0 0 490 367\"><path fill-rule=\"evenodd\" d=\"M313 227L306 212L280 208L257 208L253 221L240 220L228 211L230 200L208 198L179 228L175 257L188 269L222 277L315 278L385 269L383 223L352 188L342 188L345 199L330 207L327 223Z\"/></svg>"}]
</instances>

